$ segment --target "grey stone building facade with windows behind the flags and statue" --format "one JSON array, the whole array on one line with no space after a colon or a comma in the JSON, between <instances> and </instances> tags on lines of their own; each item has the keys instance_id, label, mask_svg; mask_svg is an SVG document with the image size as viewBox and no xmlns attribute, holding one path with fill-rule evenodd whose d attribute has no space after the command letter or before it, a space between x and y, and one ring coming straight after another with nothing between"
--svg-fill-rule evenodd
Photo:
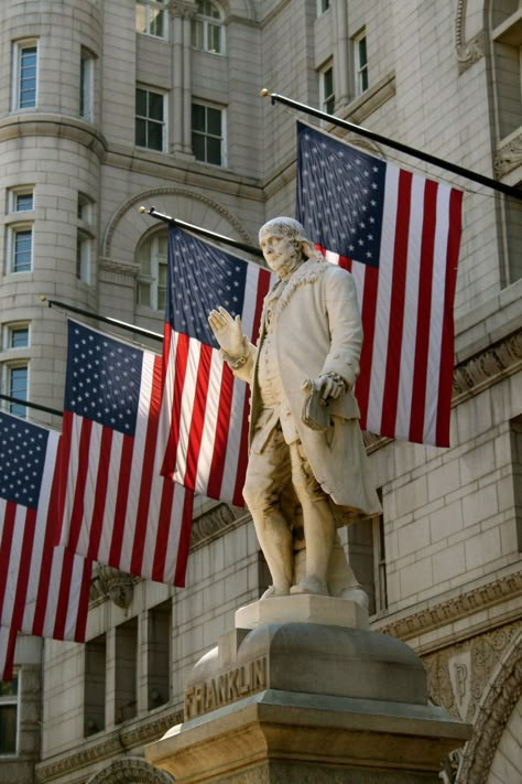
<instances>
[{"instance_id":1,"label":"grey stone building facade with windows behind the flags and statue","mask_svg":"<svg viewBox=\"0 0 522 784\"><path fill-rule=\"evenodd\" d=\"M161 332L165 227L141 205L250 244L293 214L295 116L262 87L522 187L519 0L12 0L0 42L1 388L53 408L65 316L41 294ZM466 189L452 447L368 437L383 516L345 544L372 629L412 645L432 699L475 727L443 780L513 784L522 205L371 149ZM0 781L171 781L143 745L177 722L192 665L265 580L248 514L203 500L186 589L99 567L85 645L19 638Z\"/></svg>"}]
</instances>

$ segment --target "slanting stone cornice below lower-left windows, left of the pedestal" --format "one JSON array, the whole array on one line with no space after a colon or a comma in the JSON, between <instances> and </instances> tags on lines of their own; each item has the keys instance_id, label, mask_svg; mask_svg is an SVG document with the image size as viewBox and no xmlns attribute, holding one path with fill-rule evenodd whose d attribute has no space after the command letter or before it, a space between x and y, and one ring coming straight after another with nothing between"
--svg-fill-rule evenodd
<instances>
[{"instance_id":1,"label":"slanting stone cornice below lower-left windows, left of the pedestal","mask_svg":"<svg viewBox=\"0 0 522 784\"><path fill-rule=\"evenodd\" d=\"M79 751L66 751L57 754L51 760L44 760L36 765L35 781L37 784L52 782L56 778L67 776L73 771L85 769L86 766L121 754L126 749L137 747L157 740L171 727L183 721L183 709L174 710L168 707L161 716L146 716L144 719L135 720L132 723L121 724L115 730L100 733L95 739L86 739L75 749Z\"/></svg>"}]
</instances>

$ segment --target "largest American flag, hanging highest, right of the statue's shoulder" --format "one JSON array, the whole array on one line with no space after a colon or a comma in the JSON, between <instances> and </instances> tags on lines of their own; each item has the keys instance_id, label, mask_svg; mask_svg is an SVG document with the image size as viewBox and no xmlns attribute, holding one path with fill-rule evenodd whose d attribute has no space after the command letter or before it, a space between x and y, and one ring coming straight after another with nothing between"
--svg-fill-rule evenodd
<instances>
[{"instance_id":1,"label":"largest American flag, hanging highest, right of the statue's shoulder","mask_svg":"<svg viewBox=\"0 0 522 784\"><path fill-rule=\"evenodd\" d=\"M297 219L355 279L361 427L449 445L463 193L297 123Z\"/></svg>"}]
</instances>

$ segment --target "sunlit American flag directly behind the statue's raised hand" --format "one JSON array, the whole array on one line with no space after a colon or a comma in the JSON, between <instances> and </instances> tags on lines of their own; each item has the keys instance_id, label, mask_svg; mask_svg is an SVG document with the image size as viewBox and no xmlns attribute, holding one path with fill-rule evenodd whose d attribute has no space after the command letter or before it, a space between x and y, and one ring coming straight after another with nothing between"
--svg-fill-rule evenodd
<instances>
[{"instance_id":1,"label":"sunlit American flag directly behind the statue's raised hand","mask_svg":"<svg viewBox=\"0 0 522 784\"><path fill-rule=\"evenodd\" d=\"M168 237L163 472L210 498L244 504L249 395L207 323L222 305L255 341L271 273L176 227Z\"/></svg>"}]
</instances>

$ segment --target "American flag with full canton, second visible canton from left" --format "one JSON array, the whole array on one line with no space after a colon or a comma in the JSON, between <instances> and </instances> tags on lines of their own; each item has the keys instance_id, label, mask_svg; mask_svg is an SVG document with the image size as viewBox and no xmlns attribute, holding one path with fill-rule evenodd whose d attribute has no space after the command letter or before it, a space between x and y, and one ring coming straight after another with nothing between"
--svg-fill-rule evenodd
<instances>
[{"instance_id":1,"label":"American flag with full canton, second visible canton from left","mask_svg":"<svg viewBox=\"0 0 522 784\"><path fill-rule=\"evenodd\" d=\"M62 544L184 586L194 496L160 475L161 378L152 352L68 322Z\"/></svg>"}]
</instances>

